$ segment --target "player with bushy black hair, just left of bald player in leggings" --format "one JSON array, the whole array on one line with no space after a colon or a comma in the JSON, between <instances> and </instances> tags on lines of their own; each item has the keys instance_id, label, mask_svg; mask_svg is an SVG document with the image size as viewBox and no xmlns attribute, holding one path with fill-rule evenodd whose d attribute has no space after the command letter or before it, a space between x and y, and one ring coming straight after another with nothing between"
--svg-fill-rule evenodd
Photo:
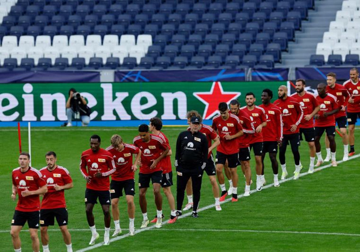
<instances>
[{"instance_id":1,"label":"player with bushy black hair, just left of bald player in leggings","mask_svg":"<svg viewBox=\"0 0 360 252\"><path fill-rule=\"evenodd\" d=\"M263 152L261 155L262 161L262 175L264 175L264 158L266 152L269 153L271 168L273 168L274 174L274 186L280 186L278 173L279 163L276 159L276 153L278 153L278 145L282 144L283 139L283 117L281 110L278 106L271 103L273 98L273 91L270 89L262 90L261 94L261 108L265 110L266 114L266 127L262 130L262 139L264 141Z\"/></svg>"}]
</instances>

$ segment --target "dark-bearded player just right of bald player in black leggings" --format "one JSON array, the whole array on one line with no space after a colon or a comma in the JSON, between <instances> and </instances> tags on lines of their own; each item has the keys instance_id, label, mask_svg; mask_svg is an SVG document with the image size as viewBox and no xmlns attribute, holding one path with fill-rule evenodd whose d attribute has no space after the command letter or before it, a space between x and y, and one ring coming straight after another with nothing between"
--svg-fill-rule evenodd
<instances>
[{"instance_id":1,"label":"dark-bearded player just right of bald player in black leggings","mask_svg":"<svg viewBox=\"0 0 360 252\"><path fill-rule=\"evenodd\" d=\"M314 116L320 109L320 104L316 100L315 95L305 91L305 80L298 79L295 82L296 93L292 94L291 97L295 98L300 103L304 116L300 122L299 134L300 141L302 141L302 134L305 136L305 141L309 145L310 149L310 165L308 173L314 173L315 165L315 129L314 129Z\"/></svg>"}]
</instances>

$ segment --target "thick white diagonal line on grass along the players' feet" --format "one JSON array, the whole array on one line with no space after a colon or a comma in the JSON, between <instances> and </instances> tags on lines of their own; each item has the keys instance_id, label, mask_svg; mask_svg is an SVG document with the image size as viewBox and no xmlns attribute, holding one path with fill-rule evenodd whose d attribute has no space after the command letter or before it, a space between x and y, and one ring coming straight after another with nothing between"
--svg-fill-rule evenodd
<instances>
[{"instance_id":1,"label":"thick white diagonal line on grass along the players' feet","mask_svg":"<svg viewBox=\"0 0 360 252\"><path fill-rule=\"evenodd\" d=\"M354 156L352 156L352 157L349 157L349 160L354 159L354 158L357 158L357 157L360 157L360 154L356 154L356 155L354 155ZM342 162L345 162L345 161L342 161L342 160L341 160L341 161L338 161L337 163L339 164L339 163L342 163ZM315 171L315 172L316 172L316 171L320 171L320 170L323 170L323 169L328 168L328 167L331 167L331 164L324 165L324 166L320 166L320 167L314 169L314 171ZM308 173L307 173L307 172L303 172L302 174L300 174L300 177L306 176L306 175L308 175ZM280 183L280 184L285 183L286 181L293 180L293 178L294 178L294 176L289 177L289 178L284 179L284 180L280 180L279 183ZM270 188L270 187L272 187L272 186L274 186L274 183L269 184L269 185L266 185L266 186L263 186L262 189L267 189L267 188ZM253 189L253 190L250 191L251 194L252 194L252 193L256 193L256 192L257 192L256 189ZM238 195L238 198L242 198L242 197L243 197L243 194ZM225 204L226 202L229 202L229 201L231 201L231 198L225 199L225 201L220 202L220 204ZM198 209L198 212L202 212L202 211L204 211L204 210L207 210L207 209L210 209L210 208L213 208L213 207L215 207L215 204L211 204L211 205L202 207L202 208ZM185 218L185 217L187 217L187 216L190 216L191 214L192 214L192 211L190 211L190 212L188 212L188 213L185 213L185 214L183 214L182 216L179 216L179 219L182 219L182 218ZM163 222L162 222L162 225L166 225L166 224L167 224L167 221L163 221ZM147 228L143 228L143 229L136 230L136 231L135 231L135 234L138 234L138 233L140 233L140 232L147 231L147 230L152 230L152 229L154 229L154 228L155 228L155 225L153 225L153 226L148 226ZM168 230L168 229L167 229L167 230ZM253 230L253 231L255 232L255 230ZM259 231L259 232L260 232L260 231ZM273 231L273 232L274 232L274 233L276 233L276 232L281 233L282 231ZM285 232L285 231L284 231L284 232ZM287 232L291 232L291 231L287 231ZM296 232L294 232L294 233L296 233ZM308 232L308 233L311 234L311 232ZM331 234L331 233L328 233L328 234ZM357 235L357 234L355 234L355 235ZM120 236L120 237L115 237L115 238L110 239L110 242L114 242L114 241L117 241L117 240L121 240L121 239L124 239L124 238L129 237L129 236L130 236L129 233L127 233L127 234L124 234L124 235L122 235L122 236ZM360 235L359 235L359 236L360 236ZM94 249L94 248L98 248L98 247L101 247L101 246L103 246L103 242L96 243L96 244L93 245L93 246L90 246L90 247L86 247L86 248L77 250L77 252L84 252L84 251L88 251L88 250L91 250L91 249Z\"/></svg>"}]
</instances>

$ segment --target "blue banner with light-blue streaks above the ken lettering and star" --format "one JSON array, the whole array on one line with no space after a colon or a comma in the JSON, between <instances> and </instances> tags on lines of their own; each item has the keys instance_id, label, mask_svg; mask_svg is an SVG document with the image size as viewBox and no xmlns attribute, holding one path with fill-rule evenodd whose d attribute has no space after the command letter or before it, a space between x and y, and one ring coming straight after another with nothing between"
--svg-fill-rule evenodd
<instances>
[{"instance_id":1,"label":"blue banner with light-blue streaks above the ken lettering and star","mask_svg":"<svg viewBox=\"0 0 360 252\"><path fill-rule=\"evenodd\" d=\"M245 81L242 69L117 71L115 82Z\"/></svg>"}]
</instances>

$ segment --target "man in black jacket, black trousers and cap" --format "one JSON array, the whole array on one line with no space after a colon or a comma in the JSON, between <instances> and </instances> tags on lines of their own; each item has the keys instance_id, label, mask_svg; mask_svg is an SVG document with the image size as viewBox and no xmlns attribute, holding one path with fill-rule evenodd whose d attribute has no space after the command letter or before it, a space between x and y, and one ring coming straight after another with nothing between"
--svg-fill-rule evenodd
<instances>
[{"instance_id":1,"label":"man in black jacket, black trousers and cap","mask_svg":"<svg viewBox=\"0 0 360 252\"><path fill-rule=\"evenodd\" d=\"M186 183L192 179L194 207L192 216L197 218L203 170L207 162L208 143L204 134L199 132L200 119L190 119L190 131L179 134L176 141L175 167L177 172L176 214L181 215Z\"/></svg>"}]
</instances>

